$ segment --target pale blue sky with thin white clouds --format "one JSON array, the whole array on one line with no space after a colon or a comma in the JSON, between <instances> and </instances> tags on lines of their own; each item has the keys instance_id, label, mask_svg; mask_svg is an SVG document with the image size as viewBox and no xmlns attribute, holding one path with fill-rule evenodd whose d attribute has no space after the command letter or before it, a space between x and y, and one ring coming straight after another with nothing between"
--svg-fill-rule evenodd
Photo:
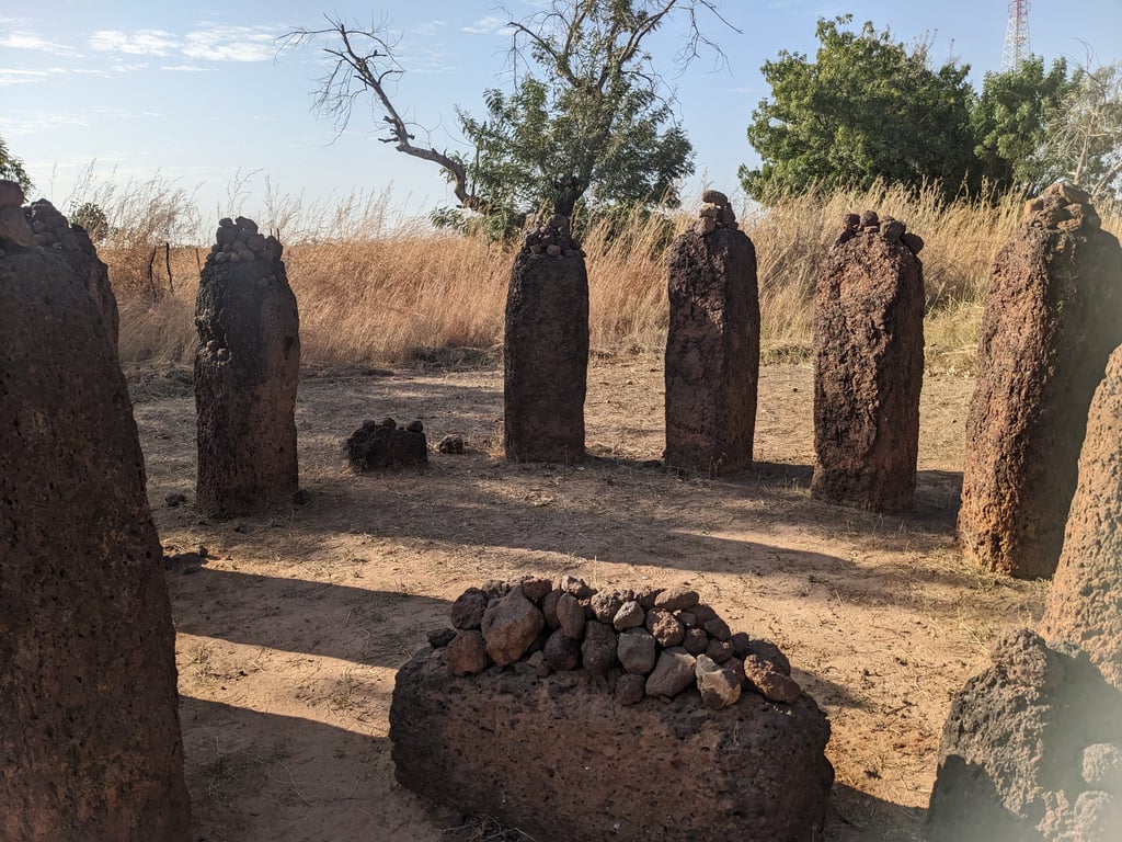
<instances>
[{"instance_id":1,"label":"pale blue sky with thin white clouds","mask_svg":"<svg viewBox=\"0 0 1122 842\"><path fill-rule=\"evenodd\" d=\"M515 18L546 0L508 0ZM649 46L677 92L696 157L683 187L737 194L737 167L758 158L745 130L770 94L761 65L781 49L813 55L819 18L889 27L930 44L936 63L968 64L980 88L1001 67L1009 0L720 0L728 25L702 17L727 61L702 53L673 63L686 35L673 21ZM511 16L491 0L166 2L39 0L0 7L0 137L45 196L66 211L76 185L158 179L197 203L204 227L221 216L260 218L268 196L330 205L387 196L395 217L454 204L439 168L379 143L379 115L362 100L337 131L312 93L327 65L314 47L278 53L277 37L324 25L323 13L385 26L405 74L393 95L417 123L417 143L463 150L457 107L484 111L488 88L509 88ZM1031 0L1031 51L1050 63L1122 58L1122 0Z\"/></svg>"}]
</instances>

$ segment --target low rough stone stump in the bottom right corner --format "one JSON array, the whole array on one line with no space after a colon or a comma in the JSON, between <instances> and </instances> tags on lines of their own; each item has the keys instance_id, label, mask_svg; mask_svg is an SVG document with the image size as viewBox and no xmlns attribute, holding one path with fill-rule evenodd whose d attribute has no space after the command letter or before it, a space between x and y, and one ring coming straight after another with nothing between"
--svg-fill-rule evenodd
<instances>
[{"instance_id":1,"label":"low rough stone stump in the bottom right corner","mask_svg":"<svg viewBox=\"0 0 1122 842\"><path fill-rule=\"evenodd\" d=\"M1105 842L1122 826L1122 694L1085 653L1014 632L951 703L929 842Z\"/></svg>"}]
</instances>

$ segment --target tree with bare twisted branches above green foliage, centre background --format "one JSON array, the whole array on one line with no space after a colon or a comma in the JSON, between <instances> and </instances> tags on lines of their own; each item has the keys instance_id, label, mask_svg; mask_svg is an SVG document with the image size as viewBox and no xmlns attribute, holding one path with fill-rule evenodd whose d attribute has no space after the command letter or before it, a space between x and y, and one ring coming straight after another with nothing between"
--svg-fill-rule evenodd
<instances>
[{"instance_id":1,"label":"tree with bare twisted branches above green foliage, centre background","mask_svg":"<svg viewBox=\"0 0 1122 842\"><path fill-rule=\"evenodd\" d=\"M471 148L420 146L414 127L388 94L404 68L386 26L298 29L286 44L327 39L334 61L320 81L315 107L344 127L356 99L373 94L387 126L385 143L432 161L452 184L460 208L516 219L540 208L569 216L594 207L677 199L674 183L692 172L692 147L673 119L672 94L645 52L652 33L680 16L688 37L678 61L715 45L698 26L719 0L551 0L512 19L513 90L486 93L487 113L458 109ZM719 49L718 49L719 55ZM443 218L454 212L442 211Z\"/></svg>"}]
</instances>

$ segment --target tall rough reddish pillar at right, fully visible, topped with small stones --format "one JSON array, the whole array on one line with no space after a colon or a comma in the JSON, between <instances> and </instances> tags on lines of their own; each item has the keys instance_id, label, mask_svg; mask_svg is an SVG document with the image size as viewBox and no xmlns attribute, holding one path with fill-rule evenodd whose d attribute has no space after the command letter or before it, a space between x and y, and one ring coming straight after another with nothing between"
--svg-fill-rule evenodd
<instances>
[{"instance_id":1,"label":"tall rough reddish pillar at right, fully visible, topped with small stones","mask_svg":"<svg viewBox=\"0 0 1122 842\"><path fill-rule=\"evenodd\" d=\"M958 538L983 567L1050 576L1087 409L1122 344L1122 248L1087 194L1057 184L997 255L966 427Z\"/></svg>"}]
</instances>

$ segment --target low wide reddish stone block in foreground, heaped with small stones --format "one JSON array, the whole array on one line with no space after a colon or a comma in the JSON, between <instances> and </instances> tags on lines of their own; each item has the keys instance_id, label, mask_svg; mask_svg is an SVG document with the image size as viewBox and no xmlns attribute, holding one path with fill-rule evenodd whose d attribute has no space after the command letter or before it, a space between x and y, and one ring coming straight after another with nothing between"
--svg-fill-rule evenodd
<instances>
[{"instance_id":1,"label":"low wide reddish stone block in foreground, heaped with small stones","mask_svg":"<svg viewBox=\"0 0 1122 842\"><path fill-rule=\"evenodd\" d=\"M541 842L820 827L826 717L773 643L695 592L531 577L469 588L451 613L397 674L404 786Z\"/></svg>"}]
</instances>

